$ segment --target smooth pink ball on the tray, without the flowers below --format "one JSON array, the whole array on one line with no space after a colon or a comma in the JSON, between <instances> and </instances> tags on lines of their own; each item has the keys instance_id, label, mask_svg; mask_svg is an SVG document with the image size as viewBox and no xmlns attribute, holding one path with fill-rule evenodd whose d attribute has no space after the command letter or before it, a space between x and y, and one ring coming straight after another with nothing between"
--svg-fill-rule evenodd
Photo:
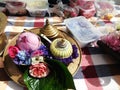
<instances>
[{"instance_id":1,"label":"smooth pink ball on the tray, without the flowers below","mask_svg":"<svg viewBox=\"0 0 120 90\"><path fill-rule=\"evenodd\" d=\"M21 50L37 50L40 45L41 45L41 40L40 37L37 36L34 33L30 32L23 32L19 35L16 45L21 49Z\"/></svg>"}]
</instances>

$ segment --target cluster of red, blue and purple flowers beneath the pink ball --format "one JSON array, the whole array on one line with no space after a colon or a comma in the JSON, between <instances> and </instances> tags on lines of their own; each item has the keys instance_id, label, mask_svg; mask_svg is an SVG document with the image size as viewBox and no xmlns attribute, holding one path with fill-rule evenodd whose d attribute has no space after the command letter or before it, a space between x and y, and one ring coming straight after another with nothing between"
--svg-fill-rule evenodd
<instances>
[{"instance_id":1,"label":"cluster of red, blue and purple flowers beneath the pink ball","mask_svg":"<svg viewBox=\"0 0 120 90\"><path fill-rule=\"evenodd\" d=\"M20 50L17 46L10 46L8 49L9 56L13 59L13 62L17 65L31 65L34 63L34 57L48 55L47 49L44 45L35 51L28 52Z\"/></svg>"}]
</instances>

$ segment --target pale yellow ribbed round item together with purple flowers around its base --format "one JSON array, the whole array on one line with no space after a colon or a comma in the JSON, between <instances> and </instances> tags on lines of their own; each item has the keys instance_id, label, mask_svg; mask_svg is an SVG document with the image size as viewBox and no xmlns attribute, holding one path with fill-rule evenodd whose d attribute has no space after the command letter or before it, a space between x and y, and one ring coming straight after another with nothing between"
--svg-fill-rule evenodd
<instances>
[{"instance_id":1,"label":"pale yellow ribbed round item together with purple flowers around its base","mask_svg":"<svg viewBox=\"0 0 120 90\"><path fill-rule=\"evenodd\" d=\"M65 65L69 65L72 63L73 59L79 56L76 45L72 45L64 38L53 40L50 44L50 51L54 59L63 62Z\"/></svg>"}]
</instances>

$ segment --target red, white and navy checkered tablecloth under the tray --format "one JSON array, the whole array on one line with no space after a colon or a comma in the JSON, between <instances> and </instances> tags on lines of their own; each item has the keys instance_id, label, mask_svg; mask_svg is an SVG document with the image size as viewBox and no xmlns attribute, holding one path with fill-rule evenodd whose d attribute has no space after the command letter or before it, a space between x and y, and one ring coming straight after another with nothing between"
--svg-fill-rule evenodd
<instances>
[{"instance_id":1,"label":"red, white and navy checkered tablecloth under the tray","mask_svg":"<svg viewBox=\"0 0 120 90\"><path fill-rule=\"evenodd\" d=\"M46 18L8 16L5 33L9 39L24 29L43 27ZM48 18L50 23L62 22L61 18ZM120 90L120 64L99 47L82 48L82 59L74 83L77 90ZM0 90L26 90L12 81L4 71L0 58Z\"/></svg>"}]
</instances>

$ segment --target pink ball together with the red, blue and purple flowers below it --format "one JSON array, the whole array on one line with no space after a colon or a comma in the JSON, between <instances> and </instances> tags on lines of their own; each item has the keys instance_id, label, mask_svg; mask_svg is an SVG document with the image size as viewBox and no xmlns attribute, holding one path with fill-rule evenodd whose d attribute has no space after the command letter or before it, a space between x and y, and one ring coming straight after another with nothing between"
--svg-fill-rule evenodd
<instances>
[{"instance_id":1,"label":"pink ball together with the red, blue and purple flowers below it","mask_svg":"<svg viewBox=\"0 0 120 90\"><path fill-rule=\"evenodd\" d=\"M46 46L41 43L39 36L31 32L22 32L16 39L16 44L9 46L8 54L16 65L25 66L41 62L40 59L37 60L36 58L40 56L44 58L48 52Z\"/></svg>"}]
</instances>

